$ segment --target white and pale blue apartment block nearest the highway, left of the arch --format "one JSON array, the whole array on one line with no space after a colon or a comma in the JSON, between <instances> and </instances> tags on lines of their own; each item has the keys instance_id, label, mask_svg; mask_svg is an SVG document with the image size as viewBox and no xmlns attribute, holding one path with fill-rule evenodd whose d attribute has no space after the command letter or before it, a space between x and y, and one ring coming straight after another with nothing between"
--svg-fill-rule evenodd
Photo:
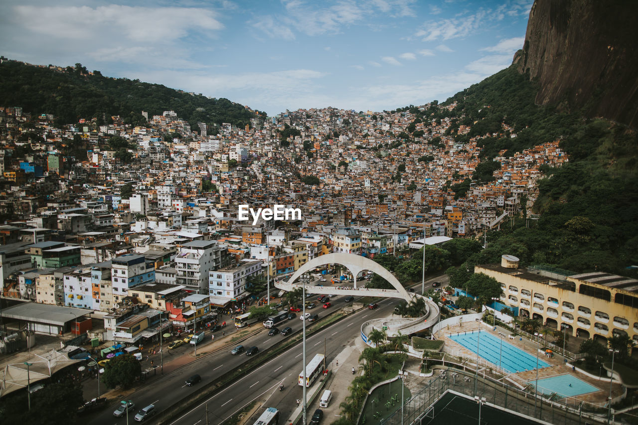
<instances>
[{"instance_id":1,"label":"white and pale blue apartment block nearest the highway, left of the arch","mask_svg":"<svg viewBox=\"0 0 638 425\"><path fill-rule=\"evenodd\" d=\"M235 267L226 267L209 273L211 304L226 306L231 301L240 301L248 295L246 281L249 276L262 273L260 260L244 259Z\"/></svg>"}]
</instances>

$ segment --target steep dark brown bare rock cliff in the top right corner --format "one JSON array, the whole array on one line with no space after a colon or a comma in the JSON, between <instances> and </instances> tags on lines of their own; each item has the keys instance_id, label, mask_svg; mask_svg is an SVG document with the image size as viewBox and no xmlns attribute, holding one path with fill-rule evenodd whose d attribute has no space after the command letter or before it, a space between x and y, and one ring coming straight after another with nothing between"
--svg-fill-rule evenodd
<instances>
[{"instance_id":1,"label":"steep dark brown bare rock cliff in the top right corner","mask_svg":"<svg viewBox=\"0 0 638 425\"><path fill-rule=\"evenodd\" d=\"M536 0L520 73L537 79L539 105L638 128L638 1Z\"/></svg>"}]
</instances>

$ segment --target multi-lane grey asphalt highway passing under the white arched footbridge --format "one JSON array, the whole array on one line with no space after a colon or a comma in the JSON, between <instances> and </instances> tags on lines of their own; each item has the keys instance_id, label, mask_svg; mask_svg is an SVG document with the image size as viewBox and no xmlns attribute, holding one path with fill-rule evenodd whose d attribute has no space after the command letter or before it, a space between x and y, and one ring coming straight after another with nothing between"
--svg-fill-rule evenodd
<instances>
[{"instance_id":1,"label":"multi-lane grey asphalt highway passing under the white arched footbridge","mask_svg":"<svg viewBox=\"0 0 638 425\"><path fill-rule=\"evenodd\" d=\"M426 281L426 290L431 287L434 280L443 280L445 276L437 276ZM415 285L415 289L420 291L420 284ZM318 313L319 317L324 317L328 313L341 308L344 305L345 296L335 296L330 299L332 306L327 309L321 308L318 304L314 309L308 310L311 313ZM356 301L356 300L355 300ZM327 361L330 362L334 357L343 350L348 341L353 338L360 338L360 325L372 318L387 317L392 314L394 306L397 304L396 299L383 299L378 302L379 307L374 310L362 309L350 315L340 322L330 325L329 327L318 331L306 341L306 361L308 362L315 354L323 353L324 340L326 343ZM299 316L299 313L298 313ZM256 324L262 326L261 324ZM290 326L294 331L301 328L299 317L278 324L279 329ZM289 336L268 336L268 329L263 328L255 336L242 341L244 347L256 345L260 350L276 345L279 341ZM153 404L158 409L157 419L161 418L161 411L168 408L178 400L195 396L200 391L200 387L209 384L216 378L220 377L226 371L236 368L243 362L248 361L249 357L245 354L231 355L228 350L223 350L211 355L207 355L202 359L191 362L172 373L169 373L158 380L152 382L151 385L141 387L128 399L136 405L135 412L129 413L130 423L134 422L133 417L138 410ZM178 348L179 350L179 348ZM208 423L211 425L219 424L226 418L234 414L239 408L248 404L251 400L258 398L265 392L278 392L274 399L278 405L273 407L282 411L283 417L286 417L293 408L295 408L295 399L302 398L302 387L297 385L297 376L302 370L302 345L299 342L283 354L275 359L265 362L262 366L251 371L248 375L228 385L225 389L218 392L204 403L196 406L189 412L184 414L172 422L172 424L205 424L205 404L208 405ZM202 377L200 384L192 387L184 384L186 379L191 375L198 373ZM286 387L285 391L279 392L278 385L283 383ZM124 417L116 418L112 412L119 406L119 400L112 400L107 408L102 410L100 414L91 418L91 423L98 425L122 424L126 422ZM132 413L132 414L131 414Z\"/></svg>"}]
</instances>

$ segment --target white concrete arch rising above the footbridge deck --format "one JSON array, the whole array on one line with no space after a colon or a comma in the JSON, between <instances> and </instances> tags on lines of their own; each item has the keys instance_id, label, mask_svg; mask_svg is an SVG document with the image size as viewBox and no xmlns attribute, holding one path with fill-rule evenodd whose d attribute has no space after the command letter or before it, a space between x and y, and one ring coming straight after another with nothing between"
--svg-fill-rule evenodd
<instances>
[{"instance_id":1,"label":"white concrete arch rising above the footbridge deck","mask_svg":"<svg viewBox=\"0 0 638 425\"><path fill-rule=\"evenodd\" d=\"M414 295L411 295L408 291L406 291L403 285L401 285L401 282L399 282L399 280L395 278L392 275L392 273L390 273L382 265L378 264L377 262L374 262L373 260L369 258L361 257L360 255L346 254L346 253L330 253L330 254L320 255L319 257L313 258L306 264L299 267L299 269L292 276L290 276L290 279L288 279L287 281L288 285L292 285L292 283L294 283L295 280L297 280L299 276L301 276L302 274L308 271L311 271L312 269L315 269L315 267L318 267L320 265L325 265L325 264L345 265L345 267L352 273L352 276L354 277L355 289L357 288L357 274L359 274L361 271L369 270L369 271L375 272L376 274L381 276L383 279L387 280L390 283L390 285L392 285L392 287L394 287L397 290L398 292L397 295L399 295L398 296L399 298L404 298L406 301L410 302L412 301L412 297L414 296ZM279 287L279 285L275 285L275 286ZM384 296L392 296L392 295L384 294Z\"/></svg>"}]
</instances>

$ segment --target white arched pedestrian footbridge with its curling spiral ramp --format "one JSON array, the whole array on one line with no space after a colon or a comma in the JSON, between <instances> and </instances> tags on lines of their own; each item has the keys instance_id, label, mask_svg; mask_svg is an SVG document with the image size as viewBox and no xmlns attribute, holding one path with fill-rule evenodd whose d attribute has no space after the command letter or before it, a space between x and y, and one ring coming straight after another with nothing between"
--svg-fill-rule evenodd
<instances>
[{"instance_id":1,"label":"white arched pedestrian footbridge with its curling spiral ramp","mask_svg":"<svg viewBox=\"0 0 638 425\"><path fill-rule=\"evenodd\" d=\"M423 295L413 294L405 290L401 282L390 273L382 265L360 255L346 254L346 253L330 253L321 255L320 257L313 258L306 264L299 267L290 279L287 281L279 281L275 283L275 287L292 291L296 288L302 287L301 283L296 283L297 279L302 274L312 271L315 267L326 264L341 264L344 265L354 276L354 284L352 287L336 287L336 286L319 286L319 285L305 285L306 291L311 294L336 294L336 295L353 295L357 297L391 297L404 299L407 302L412 302L415 297L422 298L426 303L426 314L419 318L400 318L397 316L391 316L383 319L370 320L362 325L362 338L367 342L366 335L364 334L364 327L372 329L376 327L383 329L387 336L397 336L398 334L408 335L416 332L422 332L432 327L438 322L440 317L440 311L438 305L428 297ZM362 271L372 271L387 280L394 289L376 289L357 287L357 275Z\"/></svg>"}]
</instances>

